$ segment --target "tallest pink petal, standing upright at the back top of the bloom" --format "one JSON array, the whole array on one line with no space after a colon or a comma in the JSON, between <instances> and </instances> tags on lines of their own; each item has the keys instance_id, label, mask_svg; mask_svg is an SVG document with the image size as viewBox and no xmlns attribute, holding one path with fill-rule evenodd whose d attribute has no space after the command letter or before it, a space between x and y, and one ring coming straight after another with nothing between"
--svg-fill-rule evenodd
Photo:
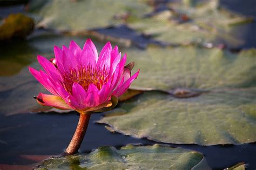
<instances>
[{"instance_id":1,"label":"tallest pink petal, standing upright at the back top of the bloom","mask_svg":"<svg viewBox=\"0 0 256 170\"><path fill-rule=\"evenodd\" d=\"M84 65L95 66L98 61L98 52L91 39L87 39L80 57L80 62Z\"/></svg>"}]
</instances>

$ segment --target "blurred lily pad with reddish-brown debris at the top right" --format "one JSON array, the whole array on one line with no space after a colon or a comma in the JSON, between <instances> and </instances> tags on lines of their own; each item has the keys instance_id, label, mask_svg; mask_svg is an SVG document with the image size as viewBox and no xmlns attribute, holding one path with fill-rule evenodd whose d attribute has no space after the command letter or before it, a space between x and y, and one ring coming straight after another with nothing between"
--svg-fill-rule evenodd
<instances>
[{"instance_id":1,"label":"blurred lily pad with reddish-brown debris at the top right","mask_svg":"<svg viewBox=\"0 0 256 170\"><path fill-rule=\"evenodd\" d=\"M167 6L172 10L148 18L130 17L127 24L166 43L216 44L220 41L237 47L244 42L235 36L232 26L252 22L252 18L221 8L218 0L205 3L183 1Z\"/></svg>"}]
</instances>

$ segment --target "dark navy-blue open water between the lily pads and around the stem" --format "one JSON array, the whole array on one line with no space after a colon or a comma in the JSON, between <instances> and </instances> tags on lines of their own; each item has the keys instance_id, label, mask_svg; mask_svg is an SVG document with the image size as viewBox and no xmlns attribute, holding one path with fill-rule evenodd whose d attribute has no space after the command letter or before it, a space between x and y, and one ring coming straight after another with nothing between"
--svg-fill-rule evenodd
<instances>
[{"instance_id":1,"label":"dark navy-blue open water between the lily pads and around the stem","mask_svg":"<svg viewBox=\"0 0 256 170\"><path fill-rule=\"evenodd\" d=\"M256 1L221 0L227 8L256 18ZM256 47L256 23L247 28L238 28L246 44L242 47ZM104 30L101 30L104 32ZM110 31L110 30L105 30ZM238 36L240 36L238 34ZM35 101L36 102L36 101ZM100 146L121 147L126 144L153 145L157 142L147 139L136 139L119 133L111 133L105 125L95 124L103 114L93 114L85 135L81 152L90 152ZM21 155L56 155L64 151L75 131L78 114L38 113L19 114L5 117L0 115L0 164L28 165L34 162ZM199 151L205 155L208 165L213 169L222 169L244 161L248 169L256 168L256 144L244 145L174 145Z\"/></svg>"}]
</instances>

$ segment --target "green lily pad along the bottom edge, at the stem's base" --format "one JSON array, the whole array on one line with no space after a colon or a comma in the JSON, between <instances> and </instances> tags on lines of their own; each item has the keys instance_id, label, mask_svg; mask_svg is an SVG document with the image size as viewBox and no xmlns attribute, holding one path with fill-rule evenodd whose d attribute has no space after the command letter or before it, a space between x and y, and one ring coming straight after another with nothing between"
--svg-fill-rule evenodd
<instances>
[{"instance_id":1,"label":"green lily pad along the bottom edge, at the stem's base","mask_svg":"<svg viewBox=\"0 0 256 170\"><path fill-rule=\"evenodd\" d=\"M89 154L53 157L36 169L190 169L203 155L169 146L99 147Z\"/></svg>"}]
</instances>

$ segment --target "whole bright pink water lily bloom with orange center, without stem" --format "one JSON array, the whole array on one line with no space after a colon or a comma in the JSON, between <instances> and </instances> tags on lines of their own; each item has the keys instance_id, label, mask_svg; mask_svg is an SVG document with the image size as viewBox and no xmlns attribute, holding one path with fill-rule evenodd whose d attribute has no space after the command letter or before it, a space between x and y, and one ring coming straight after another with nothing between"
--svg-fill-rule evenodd
<instances>
[{"instance_id":1,"label":"whole bright pink water lily bloom with orange center, without stem","mask_svg":"<svg viewBox=\"0 0 256 170\"><path fill-rule=\"evenodd\" d=\"M69 47L54 47L51 62L38 56L42 71L29 67L31 74L53 95L39 93L41 105L79 113L98 111L113 105L111 98L121 96L138 77L131 76L133 64L125 66L126 54L121 59L118 47L106 43L99 55L95 45L87 39L83 49L72 40Z\"/></svg>"}]
</instances>

